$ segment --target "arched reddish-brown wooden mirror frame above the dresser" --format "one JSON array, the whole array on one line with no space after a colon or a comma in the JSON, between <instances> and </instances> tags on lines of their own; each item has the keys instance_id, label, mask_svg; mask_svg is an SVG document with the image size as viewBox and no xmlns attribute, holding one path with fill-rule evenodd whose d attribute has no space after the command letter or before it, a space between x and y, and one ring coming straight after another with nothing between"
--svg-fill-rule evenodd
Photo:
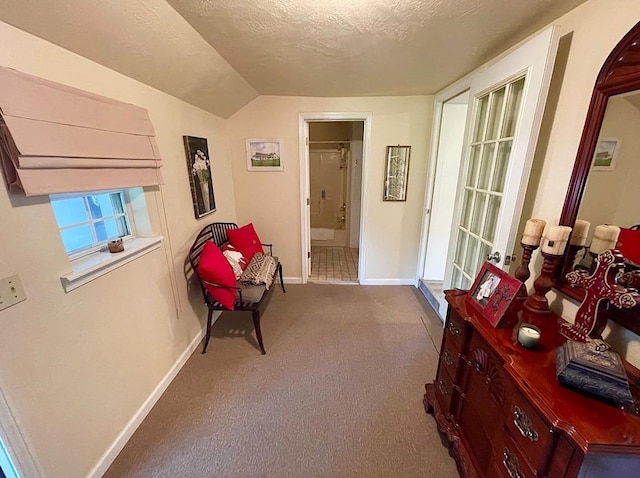
<instances>
[{"instance_id":1,"label":"arched reddish-brown wooden mirror frame above the dresser","mask_svg":"<svg viewBox=\"0 0 640 478\"><path fill-rule=\"evenodd\" d=\"M640 90L640 22L612 50L596 80L560 216L561 225L573 226L575 223L609 97L635 90ZM559 271L563 266L564 262ZM558 279L556 288L560 292L579 301L583 299L583 291L569 286L562 277ZM615 311L610 318L640 334L640 311L636 309L637 307L631 309L632 313Z\"/></svg>"}]
</instances>

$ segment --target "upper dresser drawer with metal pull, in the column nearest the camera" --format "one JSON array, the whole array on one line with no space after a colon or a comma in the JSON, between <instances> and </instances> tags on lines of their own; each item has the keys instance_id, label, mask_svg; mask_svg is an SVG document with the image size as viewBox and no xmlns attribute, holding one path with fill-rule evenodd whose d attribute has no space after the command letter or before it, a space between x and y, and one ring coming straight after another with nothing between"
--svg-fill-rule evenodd
<instances>
[{"instance_id":1,"label":"upper dresser drawer with metal pull, in the column nearest the camera","mask_svg":"<svg viewBox=\"0 0 640 478\"><path fill-rule=\"evenodd\" d=\"M542 470L553 446L554 433L520 391L514 390L511 397L505 419L507 429L531 466Z\"/></svg>"}]
</instances>

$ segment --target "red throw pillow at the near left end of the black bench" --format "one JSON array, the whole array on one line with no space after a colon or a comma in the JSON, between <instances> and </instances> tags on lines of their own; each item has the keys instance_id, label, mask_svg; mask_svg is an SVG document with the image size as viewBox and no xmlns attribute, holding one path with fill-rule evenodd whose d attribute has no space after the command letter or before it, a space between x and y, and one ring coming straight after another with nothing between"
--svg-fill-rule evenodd
<instances>
[{"instance_id":1,"label":"red throw pillow at the near left end of the black bench","mask_svg":"<svg viewBox=\"0 0 640 478\"><path fill-rule=\"evenodd\" d=\"M227 258L213 242L208 241L202 249L198 262L198 275L205 281L216 284L236 287L236 276L229 265ZM204 284L211 297L220 302L225 308L233 310L236 301L236 289L226 289Z\"/></svg>"}]
</instances>

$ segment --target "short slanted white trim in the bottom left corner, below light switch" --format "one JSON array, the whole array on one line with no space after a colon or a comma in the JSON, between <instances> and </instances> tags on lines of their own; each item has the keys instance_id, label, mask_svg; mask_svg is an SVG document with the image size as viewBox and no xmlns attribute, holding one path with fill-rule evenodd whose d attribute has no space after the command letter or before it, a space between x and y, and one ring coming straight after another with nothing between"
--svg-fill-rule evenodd
<instances>
[{"instance_id":1,"label":"short slanted white trim in the bottom left corner, below light switch","mask_svg":"<svg viewBox=\"0 0 640 478\"><path fill-rule=\"evenodd\" d=\"M4 448L9 454L8 458L14 467L14 470L4 470L7 478L14 476L13 471L17 476L29 478L43 476L35 457L31 454L25 437L20 431L21 429L22 427L11 411L11 407L0 387L0 436L2 437L2 444L4 444ZM3 452L0 451L0 453Z\"/></svg>"}]
</instances>

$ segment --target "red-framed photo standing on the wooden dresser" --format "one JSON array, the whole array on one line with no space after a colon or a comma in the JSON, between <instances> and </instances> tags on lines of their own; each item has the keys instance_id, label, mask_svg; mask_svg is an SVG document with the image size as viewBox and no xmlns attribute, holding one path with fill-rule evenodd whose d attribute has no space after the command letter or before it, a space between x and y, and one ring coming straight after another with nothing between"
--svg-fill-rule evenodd
<instances>
[{"instance_id":1,"label":"red-framed photo standing on the wooden dresser","mask_svg":"<svg viewBox=\"0 0 640 478\"><path fill-rule=\"evenodd\" d=\"M490 262L476 276L466 301L494 327L499 327L524 284Z\"/></svg>"}]
</instances>

